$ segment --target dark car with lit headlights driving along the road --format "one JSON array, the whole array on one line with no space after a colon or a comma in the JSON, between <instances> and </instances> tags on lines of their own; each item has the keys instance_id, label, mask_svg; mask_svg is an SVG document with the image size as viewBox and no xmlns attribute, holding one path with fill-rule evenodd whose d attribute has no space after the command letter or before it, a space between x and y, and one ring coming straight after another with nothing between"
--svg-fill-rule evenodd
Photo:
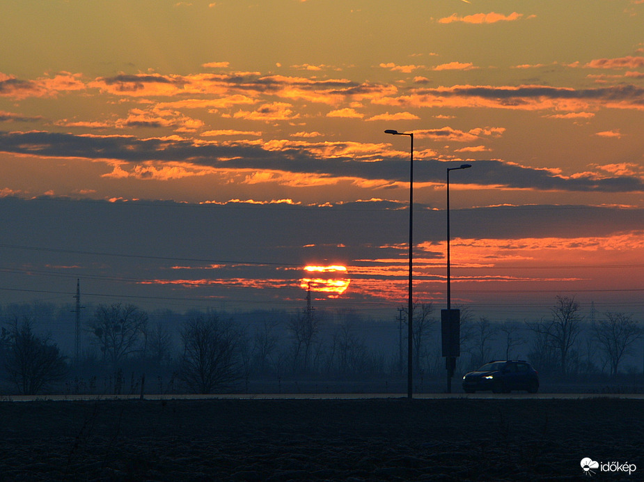
<instances>
[{"instance_id":1,"label":"dark car with lit headlights driving along the road","mask_svg":"<svg viewBox=\"0 0 644 482\"><path fill-rule=\"evenodd\" d=\"M463 390L492 390L495 394L508 394L512 390L539 390L539 373L525 360L494 360L463 377Z\"/></svg>"}]
</instances>

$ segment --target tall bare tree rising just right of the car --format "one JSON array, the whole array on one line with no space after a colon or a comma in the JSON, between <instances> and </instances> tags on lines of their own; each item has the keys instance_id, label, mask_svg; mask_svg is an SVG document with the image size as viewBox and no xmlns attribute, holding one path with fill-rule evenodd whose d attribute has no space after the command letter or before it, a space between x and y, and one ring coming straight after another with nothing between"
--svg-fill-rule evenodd
<instances>
[{"instance_id":1,"label":"tall bare tree rising just right of the car","mask_svg":"<svg viewBox=\"0 0 644 482\"><path fill-rule=\"evenodd\" d=\"M577 313L579 303L574 300L574 297L558 296L557 304L553 306L551 311L551 320L528 323L528 327L535 334L545 337L544 341L558 356L561 374L566 375L568 373L568 355L581 332L583 318Z\"/></svg>"}]
</instances>

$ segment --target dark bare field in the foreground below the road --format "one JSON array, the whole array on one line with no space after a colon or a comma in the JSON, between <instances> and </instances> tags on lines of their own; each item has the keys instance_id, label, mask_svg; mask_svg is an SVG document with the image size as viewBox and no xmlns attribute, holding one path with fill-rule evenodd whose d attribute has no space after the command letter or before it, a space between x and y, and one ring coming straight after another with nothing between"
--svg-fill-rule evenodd
<instances>
[{"instance_id":1,"label":"dark bare field in the foreground below the road","mask_svg":"<svg viewBox=\"0 0 644 482\"><path fill-rule=\"evenodd\" d=\"M0 479L583 480L635 464L643 401L210 400L0 403ZM589 479L590 480L590 479Z\"/></svg>"}]
</instances>

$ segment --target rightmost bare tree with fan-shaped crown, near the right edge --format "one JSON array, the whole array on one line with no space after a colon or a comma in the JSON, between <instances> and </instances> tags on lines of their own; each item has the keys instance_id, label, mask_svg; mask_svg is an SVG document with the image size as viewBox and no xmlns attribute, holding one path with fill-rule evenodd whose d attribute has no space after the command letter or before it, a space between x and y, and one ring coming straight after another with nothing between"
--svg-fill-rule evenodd
<instances>
[{"instance_id":1,"label":"rightmost bare tree with fan-shaped crown, near the right edge","mask_svg":"<svg viewBox=\"0 0 644 482\"><path fill-rule=\"evenodd\" d=\"M597 343L608 357L611 375L617 375L622 357L642 336L642 332L631 315L625 313L606 313L606 319L593 326Z\"/></svg>"}]
</instances>

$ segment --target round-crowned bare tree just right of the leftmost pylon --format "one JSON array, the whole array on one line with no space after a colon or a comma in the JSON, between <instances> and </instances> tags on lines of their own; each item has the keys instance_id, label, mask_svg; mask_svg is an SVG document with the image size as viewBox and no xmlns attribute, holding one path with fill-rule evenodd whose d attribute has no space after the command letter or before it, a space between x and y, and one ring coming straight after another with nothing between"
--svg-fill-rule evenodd
<instances>
[{"instance_id":1,"label":"round-crowned bare tree just right of the leftmost pylon","mask_svg":"<svg viewBox=\"0 0 644 482\"><path fill-rule=\"evenodd\" d=\"M90 329L104 359L114 371L129 355L144 350L148 314L132 304L100 304Z\"/></svg>"}]
</instances>

